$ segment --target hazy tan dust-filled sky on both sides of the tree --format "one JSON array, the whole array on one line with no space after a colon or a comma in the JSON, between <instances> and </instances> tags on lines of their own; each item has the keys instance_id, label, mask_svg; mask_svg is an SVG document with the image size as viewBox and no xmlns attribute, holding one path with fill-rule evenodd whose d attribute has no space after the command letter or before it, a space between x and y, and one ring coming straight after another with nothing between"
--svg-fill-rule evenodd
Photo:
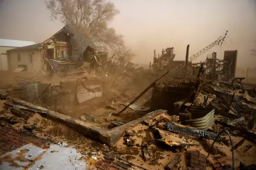
<instances>
[{"instance_id":1,"label":"hazy tan dust-filled sky on both sides of the tree","mask_svg":"<svg viewBox=\"0 0 256 170\"><path fill-rule=\"evenodd\" d=\"M256 66L250 48L256 48L256 0L113 0L120 14L113 23L136 56L134 62L149 64L154 49L174 47L176 60L184 60L187 44L190 55L212 43L225 30L230 40L208 53L238 50L239 66ZM0 0L0 38L42 42L63 27L51 21L44 0ZM231 43L232 42L232 43Z\"/></svg>"}]
</instances>

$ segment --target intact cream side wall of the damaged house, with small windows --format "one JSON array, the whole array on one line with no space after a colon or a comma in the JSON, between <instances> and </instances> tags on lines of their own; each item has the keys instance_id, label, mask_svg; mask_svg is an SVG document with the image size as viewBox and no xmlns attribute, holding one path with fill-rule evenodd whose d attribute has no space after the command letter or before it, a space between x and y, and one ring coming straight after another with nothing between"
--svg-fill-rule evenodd
<instances>
[{"instance_id":1,"label":"intact cream side wall of the damaged house, with small windows","mask_svg":"<svg viewBox=\"0 0 256 170\"><path fill-rule=\"evenodd\" d=\"M21 54L21 61L18 61L18 53ZM33 53L33 62L30 61L30 53ZM41 69L41 52L40 50L19 50L10 51L10 70L13 71L20 64L27 66L28 72L39 72Z\"/></svg>"}]
</instances>

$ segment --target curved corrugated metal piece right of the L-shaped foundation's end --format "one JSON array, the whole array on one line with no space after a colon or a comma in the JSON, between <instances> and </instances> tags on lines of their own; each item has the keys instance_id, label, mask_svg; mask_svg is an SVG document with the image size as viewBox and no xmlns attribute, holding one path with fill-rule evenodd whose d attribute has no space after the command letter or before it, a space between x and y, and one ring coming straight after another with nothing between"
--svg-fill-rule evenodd
<instances>
[{"instance_id":1,"label":"curved corrugated metal piece right of the L-shaped foundation's end","mask_svg":"<svg viewBox=\"0 0 256 170\"><path fill-rule=\"evenodd\" d=\"M214 123L214 108L190 106L187 109L192 114L192 120L186 120L187 125L197 129L206 129Z\"/></svg>"}]
</instances>

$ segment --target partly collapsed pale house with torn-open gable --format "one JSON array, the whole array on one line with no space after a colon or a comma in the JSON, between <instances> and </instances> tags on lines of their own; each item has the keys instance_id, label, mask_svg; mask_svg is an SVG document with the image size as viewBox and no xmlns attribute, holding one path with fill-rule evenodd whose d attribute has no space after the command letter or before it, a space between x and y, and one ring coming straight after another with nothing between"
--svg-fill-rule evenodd
<instances>
[{"instance_id":1,"label":"partly collapsed pale house with torn-open gable","mask_svg":"<svg viewBox=\"0 0 256 170\"><path fill-rule=\"evenodd\" d=\"M8 63L11 71L49 72L71 56L83 56L87 61L94 49L93 43L65 26L43 43L7 50Z\"/></svg>"}]
</instances>

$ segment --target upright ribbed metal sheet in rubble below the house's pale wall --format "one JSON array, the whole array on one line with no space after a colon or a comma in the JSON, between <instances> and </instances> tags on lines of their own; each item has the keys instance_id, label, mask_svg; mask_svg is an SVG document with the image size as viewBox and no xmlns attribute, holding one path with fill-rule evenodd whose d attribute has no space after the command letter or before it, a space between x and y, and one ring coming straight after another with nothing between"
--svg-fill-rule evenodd
<instances>
[{"instance_id":1,"label":"upright ribbed metal sheet in rubble below the house's pale wall","mask_svg":"<svg viewBox=\"0 0 256 170\"><path fill-rule=\"evenodd\" d=\"M35 101L38 100L40 94L47 88L48 84L44 83L34 83L28 85L20 85L21 90L21 99L26 101Z\"/></svg>"}]
</instances>

